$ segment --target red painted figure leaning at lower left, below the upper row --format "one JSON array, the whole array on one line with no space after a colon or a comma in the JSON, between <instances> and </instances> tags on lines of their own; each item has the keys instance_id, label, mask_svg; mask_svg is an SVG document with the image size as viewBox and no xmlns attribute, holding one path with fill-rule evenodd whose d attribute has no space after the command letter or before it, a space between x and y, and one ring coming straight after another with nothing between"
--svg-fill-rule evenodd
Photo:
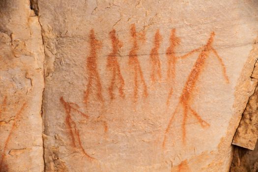
<instances>
[{"instance_id":1,"label":"red painted figure leaning at lower left, below the upper row","mask_svg":"<svg viewBox=\"0 0 258 172\"><path fill-rule=\"evenodd\" d=\"M81 142L81 137L80 137L79 131L77 129L76 123L72 119L71 111L74 110L77 113L79 113L80 115L84 116L85 118L88 118L89 116L73 107L73 106L76 106L78 108L79 106L77 104L64 101L63 97L60 97L60 102L62 103L65 113L66 113L65 123L68 127L69 134L72 138L73 147L79 146L80 149L82 150L82 152L86 155L86 157L88 159L90 159L90 160L95 159L95 158L89 156L87 154L87 152L85 151L85 149L83 148L83 145Z\"/></svg>"}]
</instances>

